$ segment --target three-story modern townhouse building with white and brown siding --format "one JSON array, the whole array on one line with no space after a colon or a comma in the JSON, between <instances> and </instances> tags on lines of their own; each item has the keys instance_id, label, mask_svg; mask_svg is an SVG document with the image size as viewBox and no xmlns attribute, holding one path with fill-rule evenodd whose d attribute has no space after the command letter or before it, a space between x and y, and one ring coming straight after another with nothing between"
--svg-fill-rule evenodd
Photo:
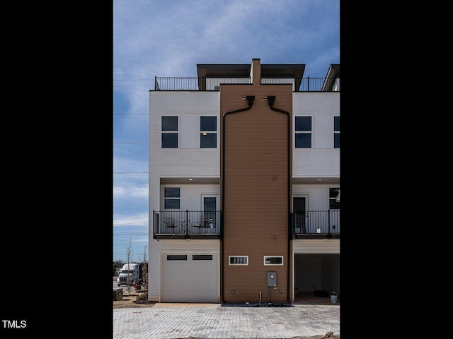
<instances>
[{"instance_id":1,"label":"three-story modern townhouse building with white and brown siding","mask_svg":"<svg viewBox=\"0 0 453 339\"><path fill-rule=\"evenodd\" d=\"M340 295L340 65L197 64L149 91L149 300Z\"/></svg>"}]
</instances>

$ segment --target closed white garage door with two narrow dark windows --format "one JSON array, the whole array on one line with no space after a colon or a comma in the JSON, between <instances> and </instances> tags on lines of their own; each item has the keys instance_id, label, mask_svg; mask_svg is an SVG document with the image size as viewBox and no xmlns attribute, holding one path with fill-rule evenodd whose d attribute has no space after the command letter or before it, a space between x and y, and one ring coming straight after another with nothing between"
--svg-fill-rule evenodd
<instances>
[{"instance_id":1,"label":"closed white garage door with two narrow dark windows","mask_svg":"<svg viewBox=\"0 0 453 339\"><path fill-rule=\"evenodd\" d=\"M162 253L161 302L219 302L217 253Z\"/></svg>"}]
</instances>

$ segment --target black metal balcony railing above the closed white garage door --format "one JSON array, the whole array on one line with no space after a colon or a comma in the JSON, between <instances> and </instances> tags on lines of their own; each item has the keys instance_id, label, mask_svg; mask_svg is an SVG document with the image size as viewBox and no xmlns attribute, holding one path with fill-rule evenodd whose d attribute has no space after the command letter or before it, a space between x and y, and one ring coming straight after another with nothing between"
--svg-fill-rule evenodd
<instances>
[{"instance_id":1,"label":"black metal balcony railing above the closed white garage door","mask_svg":"<svg viewBox=\"0 0 453 339\"><path fill-rule=\"evenodd\" d=\"M220 234L220 211L153 210L154 234Z\"/></svg>"}]
</instances>

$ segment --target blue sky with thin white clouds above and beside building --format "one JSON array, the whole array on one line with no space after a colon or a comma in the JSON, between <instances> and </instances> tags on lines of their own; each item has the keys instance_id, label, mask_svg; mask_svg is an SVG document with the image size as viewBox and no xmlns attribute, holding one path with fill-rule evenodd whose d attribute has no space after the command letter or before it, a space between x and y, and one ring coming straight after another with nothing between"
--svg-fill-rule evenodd
<instances>
[{"instance_id":1,"label":"blue sky with thin white clouds above and beside building","mask_svg":"<svg viewBox=\"0 0 453 339\"><path fill-rule=\"evenodd\" d=\"M340 63L340 0L113 1L113 260L148 245L149 90L197 64Z\"/></svg>"}]
</instances>

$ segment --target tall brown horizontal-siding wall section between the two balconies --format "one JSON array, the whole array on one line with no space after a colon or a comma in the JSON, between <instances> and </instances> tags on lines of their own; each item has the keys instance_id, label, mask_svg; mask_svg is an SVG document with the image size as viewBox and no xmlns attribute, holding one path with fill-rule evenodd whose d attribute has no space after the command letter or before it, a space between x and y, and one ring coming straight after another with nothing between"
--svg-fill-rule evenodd
<instances>
[{"instance_id":1,"label":"tall brown horizontal-siding wall section between the two balconies","mask_svg":"<svg viewBox=\"0 0 453 339\"><path fill-rule=\"evenodd\" d=\"M255 96L250 110L227 114L222 119L224 112L246 107L241 97L247 95ZM260 292L262 302L289 301L291 114L288 117L271 110L263 100L268 95L277 98L275 107L292 112L292 85L221 86L225 302L258 302ZM248 266L230 266L229 256L248 256ZM264 256L283 256L284 265L264 266ZM277 273L276 290L267 286L269 271Z\"/></svg>"}]
</instances>

